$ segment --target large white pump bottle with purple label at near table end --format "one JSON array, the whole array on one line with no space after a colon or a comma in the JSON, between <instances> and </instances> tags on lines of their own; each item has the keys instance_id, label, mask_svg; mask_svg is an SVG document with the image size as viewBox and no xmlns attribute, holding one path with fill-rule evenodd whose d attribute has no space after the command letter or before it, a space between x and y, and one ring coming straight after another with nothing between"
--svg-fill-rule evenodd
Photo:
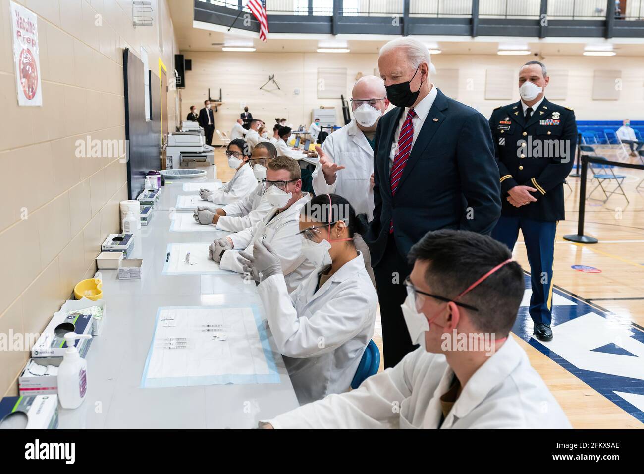
<instances>
[{"instance_id":1,"label":"large white pump bottle with purple label at near table end","mask_svg":"<svg viewBox=\"0 0 644 474\"><path fill-rule=\"evenodd\" d=\"M74 345L76 339L90 339L91 334L65 333L67 350L58 368L58 399L62 408L78 408L87 393L87 361Z\"/></svg>"}]
</instances>

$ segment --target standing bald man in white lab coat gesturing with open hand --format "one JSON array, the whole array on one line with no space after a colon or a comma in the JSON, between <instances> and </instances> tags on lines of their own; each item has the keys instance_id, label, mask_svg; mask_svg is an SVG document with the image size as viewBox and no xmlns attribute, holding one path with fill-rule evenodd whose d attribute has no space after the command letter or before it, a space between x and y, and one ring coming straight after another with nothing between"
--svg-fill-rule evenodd
<instances>
[{"instance_id":1,"label":"standing bald man in white lab coat gesturing with open hand","mask_svg":"<svg viewBox=\"0 0 644 474\"><path fill-rule=\"evenodd\" d=\"M316 146L319 161L312 175L316 194L341 195L356 213L366 213L369 221L374 217L375 129L389 106L386 97L379 77L365 75L358 79L351 98L354 119L328 135L321 149ZM359 235L355 246L363 253L366 270L374 281L369 248Z\"/></svg>"}]
</instances>

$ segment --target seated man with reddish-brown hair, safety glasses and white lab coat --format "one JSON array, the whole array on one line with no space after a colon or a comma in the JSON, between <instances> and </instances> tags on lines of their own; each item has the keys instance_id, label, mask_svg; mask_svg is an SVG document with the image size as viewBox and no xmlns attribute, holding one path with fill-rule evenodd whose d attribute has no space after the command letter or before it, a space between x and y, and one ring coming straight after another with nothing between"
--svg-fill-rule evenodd
<instances>
[{"instance_id":1,"label":"seated man with reddish-brown hair, safety glasses and white lab coat","mask_svg":"<svg viewBox=\"0 0 644 474\"><path fill-rule=\"evenodd\" d=\"M257 241L268 242L279 257L289 291L295 290L313 270L313 265L301 254L299 212L310 200L302 192L302 180L297 161L278 156L266 170L264 195L272 206L267 215L252 227L218 239L210 246L210 258L219 262L222 270L244 273L240 251L252 254Z\"/></svg>"}]
</instances>

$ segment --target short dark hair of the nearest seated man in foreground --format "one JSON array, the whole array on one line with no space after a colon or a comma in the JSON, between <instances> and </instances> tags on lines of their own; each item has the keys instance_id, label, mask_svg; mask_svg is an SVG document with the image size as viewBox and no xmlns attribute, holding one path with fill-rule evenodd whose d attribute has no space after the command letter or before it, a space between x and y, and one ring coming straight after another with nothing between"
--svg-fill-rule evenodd
<instances>
[{"instance_id":1,"label":"short dark hair of the nearest seated man in foreground","mask_svg":"<svg viewBox=\"0 0 644 474\"><path fill-rule=\"evenodd\" d=\"M433 293L447 298L457 297L473 282L511 257L512 252L504 244L488 235L449 229L426 233L408 255L410 263L417 260L428 262L425 281ZM503 337L515 324L524 286L521 266L517 262L509 262L466 293L459 302L478 309L464 310L468 311L478 330Z\"/></svg>"}]
</instances>

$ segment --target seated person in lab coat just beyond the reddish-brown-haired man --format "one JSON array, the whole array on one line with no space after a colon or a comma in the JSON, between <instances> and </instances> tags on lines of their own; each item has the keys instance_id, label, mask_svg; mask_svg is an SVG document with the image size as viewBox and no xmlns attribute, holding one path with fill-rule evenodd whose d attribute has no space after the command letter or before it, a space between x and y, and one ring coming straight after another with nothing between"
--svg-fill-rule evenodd
<instances>
[{"instance_id":1,"label":"seated person in lab coat just beyond the reddish-brown-haired man","mask_svg":"<svg viewBox=\"0 0 644 474\"><path fill-rule=\"evenodd\" d=\"M249 159L255 179L259 181L255 190L243 199L227 204L223 208L198 206L194 211L194 220L200 224L216 224L218 230L230 232L239 232L261 221L272 209L264 195L264 185L261 180L266 177L266 167L275 157L277 157L277 150L272 143L258 143Z\"/></svg>"}]
</instances>

